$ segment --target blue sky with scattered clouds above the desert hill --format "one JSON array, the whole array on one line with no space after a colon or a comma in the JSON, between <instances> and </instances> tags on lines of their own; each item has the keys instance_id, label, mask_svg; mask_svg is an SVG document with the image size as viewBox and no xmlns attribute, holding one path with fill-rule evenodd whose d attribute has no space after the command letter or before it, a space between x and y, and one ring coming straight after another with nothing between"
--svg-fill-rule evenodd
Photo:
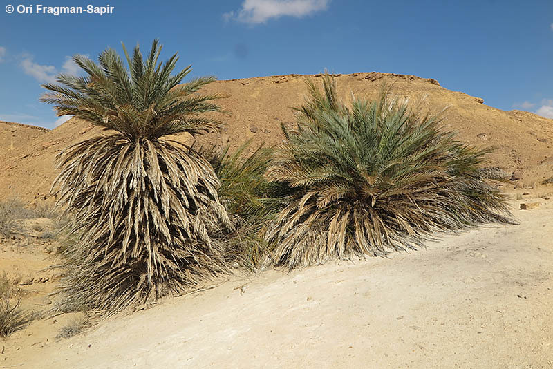
<instances>
[{"instance_id":1,"label":"blue sky with scattered clouds above the desert hill","mask_svg":"<svg viewBox=\"0 0 553 369\"><path fill-rule=\"evenodd\" d=\"M53 128L41 83L75 73L70 56L96 57L120 42L164 59L180 55L191 77L389 72L438 79L501 109L553 118L553 1L238 0L109 1L112 14L36 14L37 3L0 8L0 120ZM108 1L41 1L106 6ZM19 14L17 6L33 6ZM56 123L57 122L57 123Z\"/></svg>"}]
</instances>

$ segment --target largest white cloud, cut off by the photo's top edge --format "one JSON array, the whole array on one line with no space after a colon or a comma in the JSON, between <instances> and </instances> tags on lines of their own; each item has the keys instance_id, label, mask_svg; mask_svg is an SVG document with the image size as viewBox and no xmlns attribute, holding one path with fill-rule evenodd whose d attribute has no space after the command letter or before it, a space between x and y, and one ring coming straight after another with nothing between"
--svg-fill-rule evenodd
<instances>
[{"instance_id":1,"label":"largest white cloud, cut off by the photo's top edge","mask_svg":"<svg viewBox=\"0 0 553 369\"><path fill-rule=\"evenodd\" d=\"M330 0L245 0L236 12L223 14L225 20L236 19L243 23L265 23L271 18L305 17L326 10Z\"/></svg>"}]
</instances>

